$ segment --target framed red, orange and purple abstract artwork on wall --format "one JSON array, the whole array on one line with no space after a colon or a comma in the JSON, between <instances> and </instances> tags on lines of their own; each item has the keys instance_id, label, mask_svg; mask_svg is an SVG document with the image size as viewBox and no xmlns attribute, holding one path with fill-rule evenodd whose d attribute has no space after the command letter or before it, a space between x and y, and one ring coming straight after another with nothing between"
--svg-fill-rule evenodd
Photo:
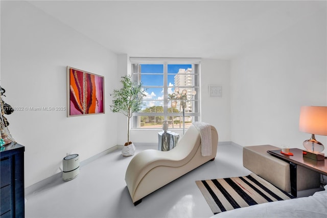
<instances>
[{"instance_id":1,"label":"framed red, orange and purple abstract artwork on wall","mask_svg":"<svg viewBox=\"0 0 327 218\"><path fill-rule=\"evenodd\" d=\"M68 116L104 113L104 77L67 67Z\"/></svg>"}]
</instances>

